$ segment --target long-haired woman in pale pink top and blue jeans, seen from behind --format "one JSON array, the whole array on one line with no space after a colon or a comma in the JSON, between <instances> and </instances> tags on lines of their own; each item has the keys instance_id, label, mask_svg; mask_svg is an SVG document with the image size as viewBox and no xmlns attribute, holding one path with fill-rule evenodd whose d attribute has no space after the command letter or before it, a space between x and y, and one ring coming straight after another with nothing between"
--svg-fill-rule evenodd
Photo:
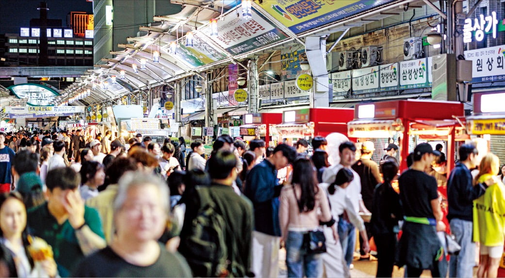
<instances>
[{"instance_id":1,"label":"long-haired woman in pale pink top and blue jeans, seen from behind","mask_svg":"<svg viewBox=\"0 0 505 278\"><path fill-rule=\"evenodd\" d=\"M320 276L321 254L306 254L302 244L305 234L318 229L319 221L330 220L328 198L318 186L314 164L307 158L297 159L291 185L284 186L280 195L279 221L288 277Z\"/></svg>"}]
</instances>

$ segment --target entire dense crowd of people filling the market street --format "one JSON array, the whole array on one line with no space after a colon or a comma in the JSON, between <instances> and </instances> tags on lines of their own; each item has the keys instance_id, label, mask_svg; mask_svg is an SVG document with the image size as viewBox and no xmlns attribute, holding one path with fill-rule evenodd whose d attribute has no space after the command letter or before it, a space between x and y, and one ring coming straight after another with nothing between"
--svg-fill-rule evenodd
<instances>
[{"instance_id":1,"label":"entire dense crowd of people filling the market street","mask_svg":"<svg viewBox=\"0 0 505 278\"><path fill-rule=\"evenodd\" d=\"M349 277L358 231L359 259L375 259L374 238L378 277L394 265L470 276L475 242L478 276L496 277L505 188L498 158L479 162L472 144L443 180L428 143L398 176L394 140L379 163L373 142L339 142L330 164L321 136L269 147L221 135L209 155L199 139L187 152L182 137L150 139L0 132L1 276L277 277L283 246L288 277ZM449 263L441 186L461 245Z\"/></svg>"}]
</instances>

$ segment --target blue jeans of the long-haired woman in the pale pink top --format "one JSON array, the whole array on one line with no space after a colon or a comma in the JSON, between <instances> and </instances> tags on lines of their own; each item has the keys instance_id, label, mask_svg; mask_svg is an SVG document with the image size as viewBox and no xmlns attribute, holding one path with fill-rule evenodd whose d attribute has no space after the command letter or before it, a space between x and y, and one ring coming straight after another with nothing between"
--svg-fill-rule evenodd
<instances>
[{"instance_id":1,"label":"blue jeans of the long-haired woman in the pale pink top","mask_svg":"<svg viewBox=\"0 0 505 278\"><path fill-rule=\"evenodd\" d=\"M321 254L307 255L301 250L305 232L289 231L286 240L286 266L288 277L319 277L323 268Z\"/></svg>"}]
</instances>

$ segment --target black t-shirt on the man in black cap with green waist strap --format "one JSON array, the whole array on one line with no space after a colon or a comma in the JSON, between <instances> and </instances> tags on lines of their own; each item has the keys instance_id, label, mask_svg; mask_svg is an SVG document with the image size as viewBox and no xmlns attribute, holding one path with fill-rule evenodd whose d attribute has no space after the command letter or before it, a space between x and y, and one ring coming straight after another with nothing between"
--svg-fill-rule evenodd
<instances>
[{"instance_id":1,"label":"black t-shirt on the man in black cap with green waist strap","mask_svg":"<svg viewBox=\"0 0 505 278\"><path fill-rule=\"evenodd\" d=\"M398 179L400 200L406 216L433 218L431 201L438 198L437 181L428 174L409 169Z\"/></svg>"}]
</instances>

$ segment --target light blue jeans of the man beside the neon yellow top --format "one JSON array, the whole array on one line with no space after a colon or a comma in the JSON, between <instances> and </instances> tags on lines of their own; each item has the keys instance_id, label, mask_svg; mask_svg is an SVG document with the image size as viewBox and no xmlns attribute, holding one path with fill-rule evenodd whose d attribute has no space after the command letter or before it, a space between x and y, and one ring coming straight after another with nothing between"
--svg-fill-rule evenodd
<instances>
[{"instance_id":1,"label":"light blue jeans of the man beside the neon yellow top","mask_svg":"<svg viewBox=\"0 0 505 278\"><path fill-rule=\"evenodd\" d=\"M449 277L471 277L475 265L475 243L473 237L473 222L453 218L450 220L450 232L456 236L461 245L458 255L451 255L449 260Z\"/></svg>"}]
</instances>

